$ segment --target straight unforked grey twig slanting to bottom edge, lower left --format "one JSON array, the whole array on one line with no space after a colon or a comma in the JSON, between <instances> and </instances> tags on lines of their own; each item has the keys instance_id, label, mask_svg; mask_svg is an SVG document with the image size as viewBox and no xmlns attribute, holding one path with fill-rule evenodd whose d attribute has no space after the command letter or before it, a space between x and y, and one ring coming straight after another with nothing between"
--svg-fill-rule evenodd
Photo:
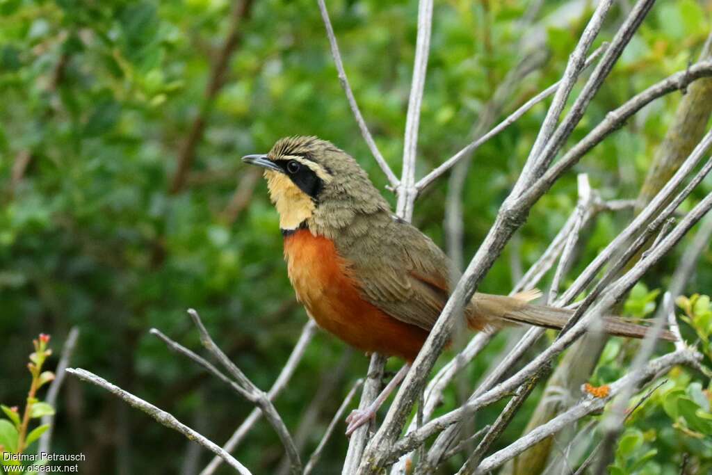
<instances>
[{"instance_id":1,"label":"straight unforked grey twig slanting to bottom edge, lower left","mask_svg":"<svg viewBox=\"0 0 712 475\"><path fill-rule=\"evenodd\" d=\"M237 461L233 456L228 454L226 451L221 449L219 445L215 444L214 442L211 442L209 439L206 439L204 436L202 436L198 432L195 432L193 429L191 429L187 425L182 424L182 422L180 422L178 419L176 419L173 416L173 414L170 414L169 412L165 412L164 410L159 409L158 407L155 407L150 402L146 402L145 400L142 400L140 397L132 395L130 392L122 390L120 387L118 387L116 385L112 385L110 382L103 379L103 377L99 377L92 372L88 372L87 370L83 370L81 368L67 368L66 372L68 372L70 375L75 375L80 380L90 382L93 385L97 385L98 387L101 387L101 388L107 390L108 392L112 393L112 395L120 397L120 399L127 402L130 406L135 407L136 409L140 409L141 411L150 415L151 417L156 419L157 422L160 422L165 427L168 427L169 429L174 429L175 431L183 434L189 440L193 440L193 441L197 442L198 444L201 444L201 446L205 447L206 449L213 452L214 454L220 456L232 468L234 468L236 471L238 471L239 474L251 475L250 471L248 469L246 469L246 467L243 464L241 464L239 461Z\"/></svg>"}]
</instances>

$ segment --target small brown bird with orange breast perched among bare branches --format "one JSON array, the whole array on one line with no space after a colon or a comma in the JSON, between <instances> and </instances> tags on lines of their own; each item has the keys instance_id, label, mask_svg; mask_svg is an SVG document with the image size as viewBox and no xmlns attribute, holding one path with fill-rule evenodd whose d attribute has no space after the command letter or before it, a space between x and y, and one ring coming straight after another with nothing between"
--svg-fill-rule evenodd
<instances>
[{"instance_id":1,"label":"small brown bird with orange breast perched among bare branches","mask_svg":"<svg viewBox=\"0 0 712 475\"><path fill-rule=\"evenodd\" d=\"M262 167L279 214L284 258L296 297L310 318L365 353L405 365L365 409L347 417L350 435L407 375L459 275L417 227L395 216L358 162L326 140L285 137L242 161ZM463 310L471 330L529 324L561 329L572 310L537 305L530 289L512 296L475 293ZM611 335L643 338L646 327L603 318ZM675 340L664 331L661 338Z\"/></svg>"}]
</instances>

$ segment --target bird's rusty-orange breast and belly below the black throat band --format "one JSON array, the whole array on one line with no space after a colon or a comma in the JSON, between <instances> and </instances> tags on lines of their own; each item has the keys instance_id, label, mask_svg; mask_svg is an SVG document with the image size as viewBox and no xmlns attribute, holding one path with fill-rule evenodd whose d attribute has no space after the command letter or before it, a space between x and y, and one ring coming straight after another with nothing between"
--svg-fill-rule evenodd
<instances>
[{"instance_id":1,"label":"bird's rusty-orange breast and belly below the black throat band","mask_svg":"<svg viewBox=\"0 0 712 475\"><path fill-rule=\"evenodd\" d=\"M414 360L426 330L361 298L332 241L300 229L285 237L284 256L298 300L320 327L359 350Z\"/></svg>"}]
</instances>

